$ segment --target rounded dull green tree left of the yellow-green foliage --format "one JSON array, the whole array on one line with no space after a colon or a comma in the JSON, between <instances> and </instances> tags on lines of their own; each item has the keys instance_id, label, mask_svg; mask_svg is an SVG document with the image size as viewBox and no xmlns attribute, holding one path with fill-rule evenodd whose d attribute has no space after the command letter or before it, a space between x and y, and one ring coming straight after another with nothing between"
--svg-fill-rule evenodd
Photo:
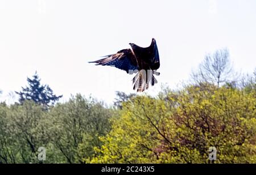
<instances>
[{"instance_id":1,"label":"rounded dull green tree left of the yellow-green foliage","mask_svg":"<svg viewBox=\"0 0 256 175\"><path fill-rule=\"evenodd\" d=\"M66 163L82 163L101 145L98 136L110 130L111 110L94 99L81 95L65 104L57 104L44 122L48 126L47 138L65 157Z\"/></svg>"}]
</instances>

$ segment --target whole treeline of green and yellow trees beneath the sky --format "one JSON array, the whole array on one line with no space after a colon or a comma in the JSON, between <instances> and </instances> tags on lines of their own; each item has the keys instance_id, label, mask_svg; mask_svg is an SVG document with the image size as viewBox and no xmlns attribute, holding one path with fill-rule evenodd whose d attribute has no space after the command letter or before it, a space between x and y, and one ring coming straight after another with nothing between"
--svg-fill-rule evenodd
<instances>
[{"instance_id":1,"label":"whole treeline of green and yellow trees beneath the sky","mask_svg":"<svg viewBox=\"0 0 256 175\"><path fill-rule=\"evenodd\" d=\"M227 50L204 61L183 88L117 92L110 107L79 94L1 103L0 163L212 163L209 147L215 163L256 163L256 70L238 77Z\"/></svg>"}]
</instances>

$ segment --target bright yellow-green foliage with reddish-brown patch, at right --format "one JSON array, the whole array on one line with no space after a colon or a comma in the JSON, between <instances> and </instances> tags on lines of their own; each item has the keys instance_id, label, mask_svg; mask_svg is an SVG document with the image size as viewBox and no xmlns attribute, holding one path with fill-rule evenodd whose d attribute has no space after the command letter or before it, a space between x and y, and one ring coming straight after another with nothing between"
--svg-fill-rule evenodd
<instances>
[{"instance_id":1,"label":"bright yellow-green foliage with reddish-brown patch, at right","mask_svg":"<svg viewBox=\"0 0 256 175\"><path fill-rule=\"evenodd\" d=\"M87 163L256 163L255 92L191 86L123 103Z\"/></svg>"}]
</instances>

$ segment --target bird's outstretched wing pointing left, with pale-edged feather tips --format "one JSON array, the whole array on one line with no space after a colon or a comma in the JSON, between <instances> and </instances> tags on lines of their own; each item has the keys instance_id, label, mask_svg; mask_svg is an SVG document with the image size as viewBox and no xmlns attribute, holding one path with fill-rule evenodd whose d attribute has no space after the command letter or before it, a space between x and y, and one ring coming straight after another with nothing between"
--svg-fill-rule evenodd
<instances>
[{"instance_id":1,"label":"bird's outstretched wing pointing left, with pale-edged feather tips","mask_svg":"<svg viewBox=\"0 0 256 175\"><path fill-rule=\"evenodd\" d=\"M134 56L131 49L123 49L115 54L105 56L105 58L89 63L97 63L96 65L102 66L114 66L118 69L125 70L127 73L129 73L129 70L139 69L136 57Z\"/></svg>"}]
</instances>

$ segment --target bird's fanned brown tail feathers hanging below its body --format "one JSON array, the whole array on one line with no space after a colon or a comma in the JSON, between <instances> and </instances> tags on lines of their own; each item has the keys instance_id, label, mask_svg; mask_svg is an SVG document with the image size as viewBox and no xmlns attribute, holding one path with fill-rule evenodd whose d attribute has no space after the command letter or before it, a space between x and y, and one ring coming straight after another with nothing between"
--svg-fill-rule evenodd
<instances>
[{"instance_id":1,"label":"bird's fanned brown tail feathers hanging below its body","mask_svg":"<svg viewBox=\"0 0 256 175\"><path fill-rule=\"evenodd\" d=\"M149 70L141 70L139 71L133 78L133 89L137 90L137 92L143 92L145 89L148 89L149 84L154 86L154 84L158 83L153 75L154 71Z\"/></svg>"}]
</instances>

